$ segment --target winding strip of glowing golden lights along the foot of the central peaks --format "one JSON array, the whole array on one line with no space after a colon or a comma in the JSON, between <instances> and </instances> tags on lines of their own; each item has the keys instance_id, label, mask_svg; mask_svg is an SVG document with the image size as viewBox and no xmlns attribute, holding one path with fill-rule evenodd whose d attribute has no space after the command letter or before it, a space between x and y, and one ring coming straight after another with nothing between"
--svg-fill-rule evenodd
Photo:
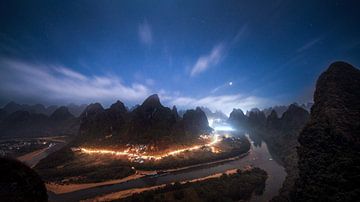
<instances>
[{"instance_id":1,"label":"winding strip of glowing golden lights along the foot of the central peaks","mask_svg":"<svg viewBox=\"0 0 360 202\"><path fill-rule=\"evenodd\" d=\"M215 144L219 143L220 141L221 141L221 139L219 138L219 136L214 135L212 138L212 141L208 144L195 145L192 147L178 149L178 150L170 151L170 152L167 152L165 154L160 154L160 155L146 155L146 154L140 154L140 153L132 153L132 152L129 152L129 150L115 151L115 150L107 150L107 149L89 149L89 148L84 148L84 147L75 148L73 150L80 151L81 153L85 153L85 154L108 154L108 155L114 155L114 156L127 156L129 160L134 160L134 159L161 160L165 157L174 156L174 155L186 152L186 151L198 150L198 149L201 149L202 147L212 147Z\"/></svg>"}]
</instances>

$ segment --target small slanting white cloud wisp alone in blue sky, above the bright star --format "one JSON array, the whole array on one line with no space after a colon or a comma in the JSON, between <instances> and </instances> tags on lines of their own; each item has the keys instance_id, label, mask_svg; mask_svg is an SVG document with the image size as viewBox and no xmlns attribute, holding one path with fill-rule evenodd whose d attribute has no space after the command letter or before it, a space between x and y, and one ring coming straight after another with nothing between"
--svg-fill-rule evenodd
<instances>
[{"instance_id":1,"label":"small slanting white cloud wisp alone in blue sky, above the bright star","mask_svg":"<svg viewBox=\"0 0 360 202\"><path fill-rule=\"evenodd\" d=\"M220 43L216 45L208 55L203 55L199 57L192 67L190 76L195 76L201 72L206 71L211 66L218 64L220 59L223 57L225 51L224 44Z\"/></svg>"}]
</instances>

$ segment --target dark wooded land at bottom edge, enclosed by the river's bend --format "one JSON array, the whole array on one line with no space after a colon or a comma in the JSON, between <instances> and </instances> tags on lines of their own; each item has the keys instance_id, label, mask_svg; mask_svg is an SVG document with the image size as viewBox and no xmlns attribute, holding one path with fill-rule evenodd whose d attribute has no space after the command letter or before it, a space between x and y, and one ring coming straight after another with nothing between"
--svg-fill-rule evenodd
<instances>
[{"instance_id":1,"label":"dark wooded land at bottom edge, enclosed by the river's bend","mask_svg":"<svg viewBox=\"0 0 360 202\"><path fill-rule=\"evenodd\" d=\"M247 170L235 169L193 181L167 184L151 191L133 194L130 197L122 198L120 201L248 200L253 193L261 194L263 192L266 179L266 172L259 168Z\"/></svg>"}]
</instances>

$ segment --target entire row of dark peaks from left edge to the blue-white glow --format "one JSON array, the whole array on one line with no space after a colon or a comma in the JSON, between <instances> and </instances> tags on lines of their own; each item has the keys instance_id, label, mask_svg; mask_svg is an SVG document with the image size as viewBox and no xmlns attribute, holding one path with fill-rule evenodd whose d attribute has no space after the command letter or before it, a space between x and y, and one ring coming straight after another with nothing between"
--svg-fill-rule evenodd
<instances>
[{"instance_id":1,"label":"entire row of dark peaks from left edge to the blue-white glow","mask_svg":"<svg viewBox=\"0 0 360 202\"><path fill-rule=\"evenodd\" d=\"M121 101L108 109L99 103L44 107L15 102L0 109L0 137L78 135L81 144L157 144L166 139L186 141L211 130L200 108L180 117L175 106L164 107L156 94L132 110Z\"/></svg>"}]
</instances>

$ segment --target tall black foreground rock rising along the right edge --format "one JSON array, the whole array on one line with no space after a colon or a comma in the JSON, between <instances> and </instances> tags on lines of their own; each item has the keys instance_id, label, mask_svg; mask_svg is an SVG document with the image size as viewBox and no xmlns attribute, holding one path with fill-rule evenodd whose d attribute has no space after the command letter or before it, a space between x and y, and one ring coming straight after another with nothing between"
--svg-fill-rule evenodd
<instances>
[{"instance_id":1,"label":"tall black foreground rock rising along the right edge","mask_svg":"<svg viewBox=\"0 0 360 202\"><path fill-rule=\"evenodd\" d=\"M360 198L360 71L336 62L321 74L310 122L299 136L294 201Z\"/></svg>"}]
</instances>

